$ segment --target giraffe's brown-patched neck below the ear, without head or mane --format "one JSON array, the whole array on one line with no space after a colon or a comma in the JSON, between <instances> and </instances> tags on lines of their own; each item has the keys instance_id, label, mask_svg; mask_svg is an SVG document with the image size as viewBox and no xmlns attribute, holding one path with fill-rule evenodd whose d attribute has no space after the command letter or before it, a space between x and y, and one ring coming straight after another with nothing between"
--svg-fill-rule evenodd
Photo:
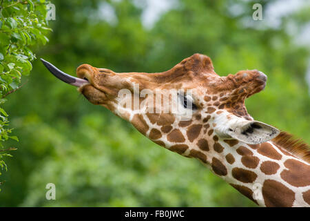
<instances>
[{"instance_id":1,"label":"giraffe's brown-patched neck below the ear, without head or mane","mask_svg":"<svg viewBox=\"0 0 310 221\"><path fill-rule=\"evenodd\" d=\"M310 206L308 162L272 142L225 141L209 166L216 175L260 206Z\"/></svg>"}]
</instances>

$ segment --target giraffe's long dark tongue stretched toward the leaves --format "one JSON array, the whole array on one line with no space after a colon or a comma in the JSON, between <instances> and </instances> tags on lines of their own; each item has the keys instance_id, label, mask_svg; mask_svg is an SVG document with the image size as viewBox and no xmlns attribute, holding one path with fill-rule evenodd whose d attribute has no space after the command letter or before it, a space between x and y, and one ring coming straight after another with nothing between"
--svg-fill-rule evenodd
<instances>
[{"instance_id":1,"label":"giraffe's long dark tongue stretched toward the leaves","mask_svg":"<svg viewBox=\"0 0 310 221\"><path fill-rule=\"evenodd\" d=\"M67 84L71 84L76 87L80 87L84 84L89 84L89 82L85 79L73 77L71 75L63 73L61 70L59 70L58 68L50 64L50 62L48 61L45 61L43 59L41 59L41 61L44 64L44 66L48 68L48 70L50 70L50 73L52 73L55 77L57 77L58 79L61 79L61 81Z\"/></svg>"}]
</instances>

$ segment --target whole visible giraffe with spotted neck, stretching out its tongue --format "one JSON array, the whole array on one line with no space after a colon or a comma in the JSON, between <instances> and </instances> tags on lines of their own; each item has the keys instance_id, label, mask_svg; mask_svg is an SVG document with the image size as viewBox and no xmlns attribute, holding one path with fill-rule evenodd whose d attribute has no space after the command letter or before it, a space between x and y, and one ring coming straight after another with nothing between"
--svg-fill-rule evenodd
<instances>
[{"instance_id":1,"label":"whole visible giraffe with spotted neck, stretching out its tongue","mask_svg":"<svg viewBox=\"0 0 310 221\"><path fill-rule=\"evenodd\" d=\"M259 206L310 206L309 145L254 120L245 108L245 99L265 88L264 73L241 70L220 77L209 57L194 54L162 73L114 73L83 64L76 78L41 60L92 104L129 121L169 151L198 159ZM119 96L122 90L130 92L130 105L124 105L128 97ZM167 104L192 114L184 118L171 108L163 112L163 99L134 90L159 94ZM184 93L167 96L172 90ZM154 111L158 106L161 110Z\"/></svg>"}]
</instances>

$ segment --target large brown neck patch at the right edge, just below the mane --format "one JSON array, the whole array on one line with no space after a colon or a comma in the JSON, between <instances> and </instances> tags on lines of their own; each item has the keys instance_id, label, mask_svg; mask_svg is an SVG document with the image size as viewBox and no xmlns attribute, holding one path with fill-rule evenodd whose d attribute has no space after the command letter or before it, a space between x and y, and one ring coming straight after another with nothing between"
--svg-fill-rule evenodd
<instances>
[{"instance_id":1,"label":"large brown neck patch at the right edge, just below the mane","mask_svg":"<svg viewBox=\"0 0 310 221\"><path fill-rule=\"evenodd\" d=\"M289 159L285 161L286 170L282 171L283 180L292 186L309 186L310 185L310 166L299 162L298 160Z\"/></svg>"}]
</instances>

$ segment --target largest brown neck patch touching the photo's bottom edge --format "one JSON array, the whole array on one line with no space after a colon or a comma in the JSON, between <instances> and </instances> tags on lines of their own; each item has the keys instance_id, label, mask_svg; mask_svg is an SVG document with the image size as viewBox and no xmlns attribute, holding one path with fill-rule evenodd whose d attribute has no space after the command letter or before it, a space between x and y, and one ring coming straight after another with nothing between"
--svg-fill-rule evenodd
<instances>
[{"instance_id":1,"label":"largest brown neck patch touching the photo's bottom edge","mask_svg":"<svg viewBox=\"0 0 310 221\"><path fill-rule=\"evenodd\" d=\"M276 180L265 180L262 185L262 197L266 206L290 207L293 206L295 193Z\"/></svg>"}]
</instances>

